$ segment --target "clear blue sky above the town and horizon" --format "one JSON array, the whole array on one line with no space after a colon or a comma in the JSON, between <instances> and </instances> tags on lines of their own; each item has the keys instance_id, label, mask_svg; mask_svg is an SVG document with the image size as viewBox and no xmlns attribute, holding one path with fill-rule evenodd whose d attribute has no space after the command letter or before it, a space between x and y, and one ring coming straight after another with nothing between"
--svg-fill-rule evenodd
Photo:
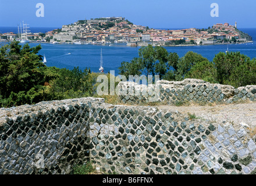
<instances>
[{"instance_id":1,"label":"clear blue sky above the town and horizon","mask_svg":"<svg viewBox=\"0 0 256 186\"><path fill-rule=\"evenodd\" d=\"M37 17L37 3L44 17ZM218 3L219 17L211 17ZM0 26L61 27L77 20L122 16L150 28L207 28L237 22L238 28L256 27L255 0L0 0Z\"/></svg>"}]
</instances>

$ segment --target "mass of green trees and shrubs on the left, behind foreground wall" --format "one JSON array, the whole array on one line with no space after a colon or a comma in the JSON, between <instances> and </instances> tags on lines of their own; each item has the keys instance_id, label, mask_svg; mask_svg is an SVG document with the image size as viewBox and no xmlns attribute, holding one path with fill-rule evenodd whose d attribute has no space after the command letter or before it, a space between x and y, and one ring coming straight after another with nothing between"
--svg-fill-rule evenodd
<instances>
[{"instance_id":1,"label":"mass of green trees and shrubs on the left, behind foreground wall","mask_svg":"<svg viewBox=\"0 0 256 186\"><path fill-rule=\"evenodd\" d=\"M0 48L0 107L93 94L90 69L47 67L37 55L40 49L17 41Z\"/></svg>"}]
</instances>

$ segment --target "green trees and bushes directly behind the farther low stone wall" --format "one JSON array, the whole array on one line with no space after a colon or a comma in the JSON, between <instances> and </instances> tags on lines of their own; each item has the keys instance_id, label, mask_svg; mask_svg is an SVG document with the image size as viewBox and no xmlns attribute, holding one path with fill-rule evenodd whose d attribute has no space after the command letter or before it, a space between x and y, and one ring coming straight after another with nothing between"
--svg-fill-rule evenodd
<instances>
[{"instance_id":1,"label":"green trees and bushes directly behind the farther low stone wall","mask_svg":"<svg viewBox=\"0 0 256 186\"><path fill-rule=\"evenodd\" d=\"M184 78L197 78L209 83L220 83L242 87L256 84L256 59L250 59L240 52L220 52L213 62L198 53L187 52L179 58L175 52L167 52L163 47L141 47L139 58L122 62L120 74L141 75L159 74L168 81L182 81Z\"/></svg>"}]
</instances>

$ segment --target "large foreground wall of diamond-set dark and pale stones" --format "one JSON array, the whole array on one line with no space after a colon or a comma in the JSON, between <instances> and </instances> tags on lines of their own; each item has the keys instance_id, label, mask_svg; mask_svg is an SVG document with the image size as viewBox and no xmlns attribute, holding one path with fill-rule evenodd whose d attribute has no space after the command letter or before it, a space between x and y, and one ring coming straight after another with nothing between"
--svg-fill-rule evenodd
<instances>
[{"instance_id":1,"label":"large foreground wall of diamond-set dark and pale stones","mask_svg":"<svg viewBox=\"0 0 256 186\"><path fill-rule=\"evenodd\" d=\"M0 174L255 173L254 128L80 98L0 109Z\"/></svg>"}]
</instances>

